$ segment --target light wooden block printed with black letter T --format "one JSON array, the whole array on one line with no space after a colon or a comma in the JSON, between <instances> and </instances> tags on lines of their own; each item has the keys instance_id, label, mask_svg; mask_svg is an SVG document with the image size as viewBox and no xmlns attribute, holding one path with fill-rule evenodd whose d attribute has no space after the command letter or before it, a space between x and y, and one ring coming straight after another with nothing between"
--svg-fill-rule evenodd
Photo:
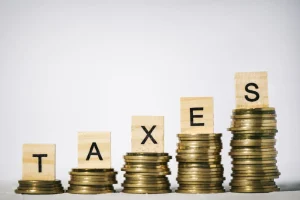
<instances>
[{"instance_id":1,"label":"light wooden block printed with black letter T","mask_svg":"<svg viewBox=\"0 0 300 200\"><path fill-rule=\"evenodd\" d=\"M55 144L23 145L23 180L55 180Z\"/></svg>"}]
</instances>

